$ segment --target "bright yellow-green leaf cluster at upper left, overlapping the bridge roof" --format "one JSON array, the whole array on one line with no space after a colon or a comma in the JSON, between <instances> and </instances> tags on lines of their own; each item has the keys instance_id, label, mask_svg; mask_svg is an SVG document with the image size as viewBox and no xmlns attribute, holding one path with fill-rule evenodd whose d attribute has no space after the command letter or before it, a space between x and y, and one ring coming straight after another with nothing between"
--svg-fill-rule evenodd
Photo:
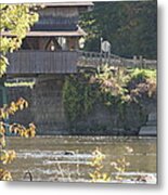
<instances>
[{"instance_id":1,"label":"bright yellow-green leaf cluster at upper left, overlapping the bridge roof","mask_svg":"<svg viewBox=\"0 0 168 195\"><path fill-rule=\"evenodd\" d=\"M38 21L35 4L0 4L0 32L8 31L11 37L0 36L0 77L9 64L5 54L20 49L27 31Z\"/></svg>"}]
</instances>

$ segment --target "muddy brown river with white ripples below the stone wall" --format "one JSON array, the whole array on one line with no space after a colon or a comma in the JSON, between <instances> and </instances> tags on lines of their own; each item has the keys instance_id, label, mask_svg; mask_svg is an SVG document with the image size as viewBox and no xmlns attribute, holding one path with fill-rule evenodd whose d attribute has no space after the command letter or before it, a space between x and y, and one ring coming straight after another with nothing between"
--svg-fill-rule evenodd
<instances>
[{"instance_id":1,"label":"muddy brown river with white ripples below the stone wall","mask_svg":"<svg viewBox=\"0 0 168 195\"><path fill-rule=\"evenodd\" d=\"M13 180L88 182L93 172L89 162L92 152L99 147L105 154L103 172L112 181L118 171L112 161L125 156L128 167L120 173L121 181L137 183L138 178L148 178L156 182L156 139L155 138L112 138L112 136L36 136L34 139L8 138L8 148L16 151L17 158L8 165Z\"/></svg>"}]
</instances>

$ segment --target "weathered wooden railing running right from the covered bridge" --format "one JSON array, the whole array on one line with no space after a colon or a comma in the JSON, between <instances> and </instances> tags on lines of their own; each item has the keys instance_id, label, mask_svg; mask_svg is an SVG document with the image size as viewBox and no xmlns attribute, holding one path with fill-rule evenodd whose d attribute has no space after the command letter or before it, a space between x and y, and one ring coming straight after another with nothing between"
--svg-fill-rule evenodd
<instances>
[{"instance_id":1,"label":"weathered wooden railing running right from the covered bridge","mask_svg":"<svg viewBox=\"0 0 168 195\"><path fill-rule=\"evenodd\" d=\"M140 68L156 68L157 61L146 60L142 56L133 58L125 58L115 54L105 54L98 52L79 51L79 57L77 65L79 67L98 67L103 64L112 66L125 66L125 67L140 67Z\"/></svg>"}]
</instances>

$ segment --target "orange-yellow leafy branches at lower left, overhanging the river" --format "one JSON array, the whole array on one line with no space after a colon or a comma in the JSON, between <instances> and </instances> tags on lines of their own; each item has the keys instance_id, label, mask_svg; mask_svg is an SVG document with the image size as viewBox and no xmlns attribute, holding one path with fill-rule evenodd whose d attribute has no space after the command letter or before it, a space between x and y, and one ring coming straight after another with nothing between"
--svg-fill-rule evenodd
<instances>
[{"instance_id":1,"label":"orange-yellow leafy branches at lower left, overhanging the river","mask_svg":"<svg viewBox=\"0 0 168 195\"><path fill-rule=\"evenodd\" d=\"M36 134L36 127L34 123L30 123L28 128L25 128L18 123L8 125L3 121L10 115L14 115L17 110L22 110L27 106L27 101L20 99L17 102L11 102L9 106L3 105L3 107L0 108L0 181L12 180L11 173L8 170L2 169L2 165L11 164L16 158L16 153L14 151L4 150L7 131L24 138L34 138Z\"/></svg>"}]
</instances>

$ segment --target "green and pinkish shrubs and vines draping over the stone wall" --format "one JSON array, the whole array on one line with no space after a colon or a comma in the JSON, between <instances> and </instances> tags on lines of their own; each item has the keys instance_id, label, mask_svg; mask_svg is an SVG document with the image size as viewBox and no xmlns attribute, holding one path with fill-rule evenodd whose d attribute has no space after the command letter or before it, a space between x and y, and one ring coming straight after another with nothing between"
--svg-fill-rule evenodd
<instances>
[{"instance_id":1,"label":"green and pinkish shrubs and vines draping over the stone wall","mask_svg":"<svg viewBox=\"0 0 168 195\"><path fill-rule=\"evenodd\" d=\"M67 77L63 88L65 113L72 123L83 119L96 104L113 109L118 106L120 118L132 105L141 110L144 99L156 95L156 70L126 69L104 65L95 73L80 73Z\"/></svg>"}]
</instances>

